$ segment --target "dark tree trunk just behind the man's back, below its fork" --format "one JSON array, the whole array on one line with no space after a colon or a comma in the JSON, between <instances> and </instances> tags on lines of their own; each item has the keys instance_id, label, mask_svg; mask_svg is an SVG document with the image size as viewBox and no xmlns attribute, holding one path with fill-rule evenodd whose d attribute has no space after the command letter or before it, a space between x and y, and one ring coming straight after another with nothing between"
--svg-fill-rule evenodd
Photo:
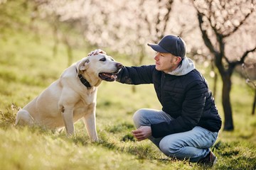
<instances>
[{"instance_id":1,"label":"dark tree trunk just behind the man's back, below its fork","mask_svg":"<svg viewBox=\"0 0 256 170\"><path fill-rule=\"evenodd\" d=\"M224 111L224 130L234 130L232 108L230 103L231 76L230 74L221 75L223 78L222 103Z\"/></svg>"}]
</instances>

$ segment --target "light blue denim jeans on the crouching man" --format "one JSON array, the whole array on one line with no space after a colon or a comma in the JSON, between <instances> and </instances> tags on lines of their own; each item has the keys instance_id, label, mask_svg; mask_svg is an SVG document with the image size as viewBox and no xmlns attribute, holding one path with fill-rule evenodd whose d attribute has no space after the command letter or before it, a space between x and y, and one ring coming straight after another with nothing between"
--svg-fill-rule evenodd
<instances>
[{"instance_id":1,"label":"light blue denim jeans on the crouching man","mask_svg":"<svg viewBox=\"0 0 256 170\"><path fill-rule=\"evenodd\" d=\"M174 118L164 111L142 108L134 113L134 124L136 128L140 126L150 126L151 124L167 122ZM176 159L189 159L190 162L198 162L210 152L210 147L217 140L218 132L211 132L200 126L196 126L187 132L179 132L165 137L149 137L161 152L168 157Z\"/></svg>"}]
</instances>

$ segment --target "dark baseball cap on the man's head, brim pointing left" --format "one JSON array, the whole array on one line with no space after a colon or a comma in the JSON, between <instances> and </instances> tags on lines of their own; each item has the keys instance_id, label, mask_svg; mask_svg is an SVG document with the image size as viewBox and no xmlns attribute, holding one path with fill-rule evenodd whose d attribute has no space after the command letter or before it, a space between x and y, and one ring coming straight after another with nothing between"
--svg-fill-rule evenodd
<instances>
[{"instance_id":1,"label":"dark baseball cap on the man's head, brim pointing left","mask_svg":"<svg viewBox=\"0 0 256 170\"><path fill-rule=\"evenodd\" d=\"M179 36L166 35L158 44L148 43L147 45L156 52L171 53L172 55L181 57L182 59L186 55L186 44Z\"/></svg>"}]
</instances>

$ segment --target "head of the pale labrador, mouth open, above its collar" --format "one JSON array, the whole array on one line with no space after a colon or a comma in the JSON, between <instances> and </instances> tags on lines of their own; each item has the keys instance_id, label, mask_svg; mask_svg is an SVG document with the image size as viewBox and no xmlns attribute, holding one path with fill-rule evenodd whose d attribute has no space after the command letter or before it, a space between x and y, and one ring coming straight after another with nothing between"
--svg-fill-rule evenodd
<instances>
[{"instance_id":1,"label":"head of the pale labrador, mouth open, above its collar","mask_svg":"<svg viewBox=\"0 0 256 170\"><path fill-rule=\"evenodd\" d=\"M82 74L90 74L105 81L117 79L117 73L122 68L122 64L114 61L112 57L105 54L90 55L83 58L77 69Z\"/></svg>"}]
</instances>

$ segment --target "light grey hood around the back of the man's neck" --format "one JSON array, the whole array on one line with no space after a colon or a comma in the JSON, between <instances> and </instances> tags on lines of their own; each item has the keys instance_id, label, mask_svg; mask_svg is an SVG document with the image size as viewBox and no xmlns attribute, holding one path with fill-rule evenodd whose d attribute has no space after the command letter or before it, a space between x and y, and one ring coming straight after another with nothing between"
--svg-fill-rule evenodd
<instances>
[{"instance_id":1,"label":"light grey hood around the back of the man's neck","mask_svg":"<svg viewBox=\"0 0 256 170\"><path fill-rule=\"evenodd\" d=\"M188 74L195 68L196 67L193 61L188 57L184 57L184 59L182 60L182 64L179 67L177 67L174 71L169 72L168 74L174 76L183 76L185 74Z\"/></svg>"}]
</instances>

